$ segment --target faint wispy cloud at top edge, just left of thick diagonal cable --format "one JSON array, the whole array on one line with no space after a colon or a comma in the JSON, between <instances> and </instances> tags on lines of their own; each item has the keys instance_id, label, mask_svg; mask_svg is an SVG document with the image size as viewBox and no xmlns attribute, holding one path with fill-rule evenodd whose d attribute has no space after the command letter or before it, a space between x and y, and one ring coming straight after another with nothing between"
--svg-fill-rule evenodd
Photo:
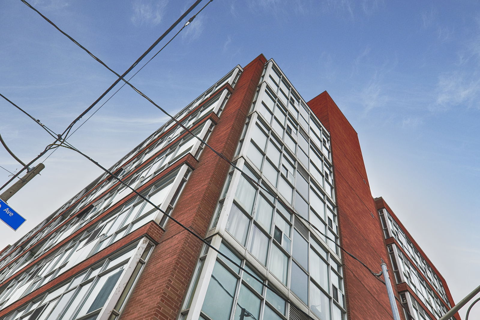
<instances>
[{"instance_id":1,"label":"faint wispy cloud at top edge, just left of thick diagonal cable","mask_svg":"<svg viewBox=\"0 0 480 320\"><path fill-rule=\"evenodd\" d=\"M130 20L133 25L158 25L164 16L166 0L135 0Z\"/></svg>"}]
</instances>

